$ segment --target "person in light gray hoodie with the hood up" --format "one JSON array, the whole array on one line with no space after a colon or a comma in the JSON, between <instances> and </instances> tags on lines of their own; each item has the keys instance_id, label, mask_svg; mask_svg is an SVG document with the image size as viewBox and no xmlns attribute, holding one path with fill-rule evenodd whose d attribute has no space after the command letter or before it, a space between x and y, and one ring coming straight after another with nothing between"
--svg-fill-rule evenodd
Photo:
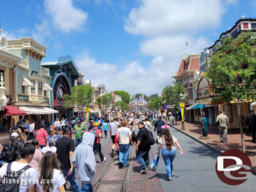
<instances>
[{"instance_id":1,"label":"person in light gray hoodie with the hood up","mask_svg":"<svg viewBox=\"0 0 256 192\"><path fill-rule=\"evenodd\" d=\"M74 151L72 163L78 171L78 178L82 182L81 192L93 192L91 180L94 177L96 161L93 153L95 136L89 132L83 135L82 143Z\"/></svg>"}]
</instances>

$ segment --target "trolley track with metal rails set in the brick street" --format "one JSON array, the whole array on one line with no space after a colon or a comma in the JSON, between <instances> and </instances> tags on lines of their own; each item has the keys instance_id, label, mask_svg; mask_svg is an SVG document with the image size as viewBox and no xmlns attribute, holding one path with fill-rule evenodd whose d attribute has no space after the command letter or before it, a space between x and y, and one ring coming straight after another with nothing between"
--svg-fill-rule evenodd
<instances>
[{"instance_id":1,"label":"trolley track with metal rails set in the brick street","mask_svg":"<svg viewBox=\"0 0 256 192\"><path fill-rule=\"evenodd\" d=\"M131 169L132 169L132 158L133 158L133 153L135 151L135 146L133 145L132 147L132 152L129 154L129 166L128 169L123 168L123 169L118 169L118 165L114 164L115 163L115 155L116 155L116 151L115 151L115 155L114 157L112 157L110 159L110 161L107 163L107 165L104 167L104 170L102 171L102 173L99 175L99 177L97 178L97 180L94 182L93 184L93 191L94 192L103 192L104 189L107 190L107 188L110 186L115 187L115 189L112 189L112 191L119 191L119 192L128 192L128 186L129 186L129 178L130 178L130 174L131 174ZM130 148L131 151L131 148ZM118 161L119 162L119 161ZM120 173L120 171L118 170L112 170L113 166L115 166L114 168L118 169L118 170L122 170L123 173L125 173L125 171L123 170L127 170L125 175L123 175L123 179L122 176L119 176L118 173ZM113 172L116 171L116 172ZM106 179L106 175L105 174L112 174L110 175L109 179ZM111 178L111 176L114 176L115 179ZM107 186L110 185L110 186ZM119 188L119 189L117 189Z\"/></svg>"}]
</instances>

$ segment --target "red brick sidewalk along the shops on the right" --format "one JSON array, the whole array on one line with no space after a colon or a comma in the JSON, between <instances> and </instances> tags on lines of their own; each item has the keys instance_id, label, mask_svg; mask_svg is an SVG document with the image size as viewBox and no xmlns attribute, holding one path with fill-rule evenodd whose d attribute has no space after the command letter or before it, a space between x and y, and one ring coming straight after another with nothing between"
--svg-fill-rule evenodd
<instances>
[{"instance_id":1,"label":"red brick sidewalk along the shops on the right","mask_svg":"<svg viewBox=\"0 0 256 192\"><path fill-rule=\"evenodd\" d=\"M167 122L168 123L168 122ZM199 138L201 133L201 125L199 122L184 122L185 130L184 132L193 135L195 138ZM177 122L177 125L172 125L181 130L181 121ZM219 126L217 125L208 125L208 137L210 139L202 140L210 145L218 148L219 150L229 150L229 149L238 149L242 150L241 135L239 129L227 129L227 142L220 143L219 138ZM252 143L252 138L248 134L248 130L243 129L243 137L246 145L246 154L251 159L252 166L256 166L256 143Z\"/></svg>"}]
</instances>

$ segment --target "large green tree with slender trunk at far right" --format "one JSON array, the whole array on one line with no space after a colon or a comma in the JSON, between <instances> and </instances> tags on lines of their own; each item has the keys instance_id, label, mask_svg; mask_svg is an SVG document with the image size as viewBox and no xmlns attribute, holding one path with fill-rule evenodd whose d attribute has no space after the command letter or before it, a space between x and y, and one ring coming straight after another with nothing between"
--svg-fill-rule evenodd
<instances>
[{"instance_id":1,"label":"large green tree with slender trunk at far right","mask_svg":"<svg viewBox=\"0 0 256 192\"><path fill-rule=\"evenodd\" d=\"M211 55L206 78L210 80L215 101L230 103L235 101L238 110L238 126L245 153L243 128L241 125L241 106L256 99L256 35L246 32L236 39L222 40L214 55Z\"/></svg>"}]
</instances>

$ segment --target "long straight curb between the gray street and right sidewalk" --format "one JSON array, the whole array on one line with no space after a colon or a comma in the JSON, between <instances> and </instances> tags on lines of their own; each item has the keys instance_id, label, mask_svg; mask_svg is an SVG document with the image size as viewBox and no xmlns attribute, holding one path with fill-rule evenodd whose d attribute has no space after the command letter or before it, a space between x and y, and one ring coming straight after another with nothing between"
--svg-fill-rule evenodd
<instances>
[{"instance_id":1,"label":"long straight curb between the gray street and right sidewalk","mask_svg":"<svg viewBox=\"0 0 256 192\"><path fill-rule=\"evenodd\" d=\"M168 124L168 123L166 123L166 124ZM220 150L219 148L214 147L214 146L212 146L211 144L206 143L206 142L204 142L203 140L201 140L201 139L199 139L199 138L196 138L195 136L193 136L193 135L191 135L191 134L189 134L189 133L187 133L187 132L185 132L185 131L183 131L183 130L180 130L180 129L177 128L177 127L174 127L173 125L170 125L170 124L168 124L168 125L169 125L170 127L172 127L173 129L175 129L175 130L177 130L177 131L183 133L184 135L188 136L189 138L195 140L196 142L200 143L201 145L204 145L205 147L207 147L207 148L209 148L209 149L215 151L216 153L222 154L222 153L224 152L224 150ZM252 166L251 172L252 172L252 174L256 175L256 166L254 166L254 167Z\"/></svg>"}]
</instances>

